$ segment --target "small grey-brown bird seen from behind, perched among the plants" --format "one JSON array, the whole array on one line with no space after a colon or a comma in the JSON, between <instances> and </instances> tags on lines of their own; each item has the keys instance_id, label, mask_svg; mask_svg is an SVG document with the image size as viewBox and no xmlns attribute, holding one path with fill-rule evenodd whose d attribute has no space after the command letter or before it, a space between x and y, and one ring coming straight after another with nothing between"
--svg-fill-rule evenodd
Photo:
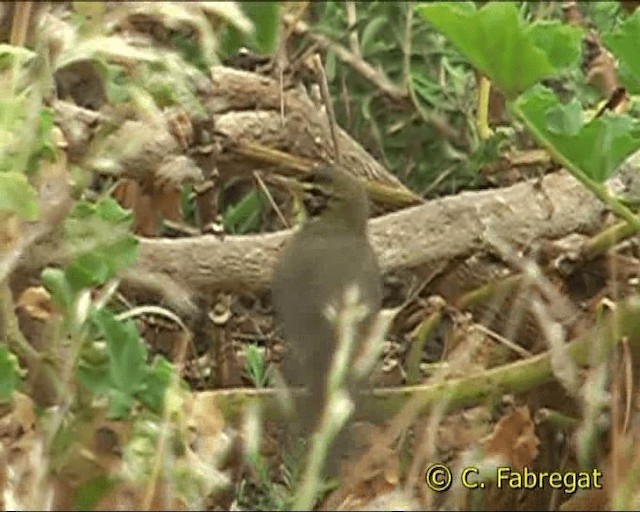
<instances>
[{"instance_id":1,"label":"small grey-brown bird seen from behind, perched among the plants","mask_svg":"<svg viewBox=\"0 0 640 512\"><path fill-rule=\"evenodd\" d=\"M337 342L327 306L339 304L349 286L358 288L367 315L359 326L355 354L381 307L382 283L367 237L369 202L360 182L335 167L319 167L305 177L302 189L307 219L276 266L272 294L290 347L285 377L311 393L308 407L300 411L308 429L317 425L324 407Z\"/></svg>"}]
</instances>

